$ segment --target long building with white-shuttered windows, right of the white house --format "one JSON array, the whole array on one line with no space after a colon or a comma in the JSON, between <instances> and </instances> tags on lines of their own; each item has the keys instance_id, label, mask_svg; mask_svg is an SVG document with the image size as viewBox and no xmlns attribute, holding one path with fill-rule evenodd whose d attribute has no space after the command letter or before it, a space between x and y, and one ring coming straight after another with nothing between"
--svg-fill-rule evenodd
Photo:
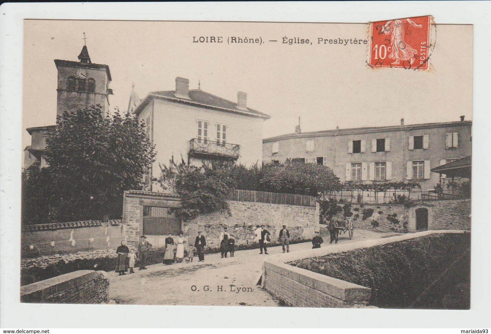
<instances>
[{"instance_id":1,"label":"long building with white-shuttered windows, right of the white house","mask_svg":"<svg viewBox=\"0 0 491 334\"><path fill-rule=\"evenodd\" d=\"M471 155L471 121L360 127L263 140L263 162L300 159L330 167L341 182L418 182L432 190L445 175L431 169Z\"/></svg>"}]
</instances>

